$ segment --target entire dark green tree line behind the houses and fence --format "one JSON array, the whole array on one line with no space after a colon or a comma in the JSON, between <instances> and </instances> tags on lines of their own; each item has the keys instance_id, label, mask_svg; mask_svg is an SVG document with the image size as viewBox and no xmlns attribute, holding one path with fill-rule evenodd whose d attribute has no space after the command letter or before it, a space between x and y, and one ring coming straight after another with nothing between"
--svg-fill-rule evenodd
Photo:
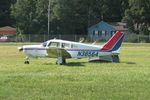
<instances>
[{"instance_id":1,"label":"entire dark green tree line behind the houses and fence","mask_svg":"<svg viewBox=\"0 0 150 100\"><path fill-rule=\"evenodd\" d=\"M86 34L102 20L126 22L129 31L150 33L149 0L1 0L0 26L24 34Z\"/></svg>"}]
</instances>

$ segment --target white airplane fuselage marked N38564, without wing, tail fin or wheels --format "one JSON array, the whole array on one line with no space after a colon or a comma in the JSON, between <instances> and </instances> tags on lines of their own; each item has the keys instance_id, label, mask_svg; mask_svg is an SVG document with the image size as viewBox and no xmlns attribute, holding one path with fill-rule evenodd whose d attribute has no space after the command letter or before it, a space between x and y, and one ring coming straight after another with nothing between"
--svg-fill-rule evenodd
<instances>
[{"instance_id":1,"label":"white airplane fuselage marked N38564, without wing, tail fin or wheels","mask_svg":"<svg viewBox=\"0 0 150 100\"><path fill-rule=\"evenodd\" d=\"M47 51L51 46L51 43L58 43L59 45L56 46L58 48L65 49L70 55L71 58L85 58L85 57L98 57L98 56L107 56L112 55L112 52L102 52L100 51L101 47L97 45L90 45L90 44L83 44L83 43L76 43L64 40L49 40L47 44L43 46L40 45L25 45L23 46L23 52L29 57L47 57ZM62 44L67 44L67 47L62 47ZM73 47L74 46L74 47Z\"/></svg>"}]
</instances>

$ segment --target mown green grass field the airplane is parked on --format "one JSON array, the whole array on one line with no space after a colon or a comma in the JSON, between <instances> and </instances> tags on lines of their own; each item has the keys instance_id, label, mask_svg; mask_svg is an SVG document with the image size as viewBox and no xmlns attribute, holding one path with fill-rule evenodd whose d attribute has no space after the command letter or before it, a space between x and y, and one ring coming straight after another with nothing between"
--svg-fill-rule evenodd
<instances>
[{"instance_id":1,"label":"mown green grass field the airplane is parked on","mask_svg":"<svg viewBox=\"0 0 150 100\"><path fill-rule=\"evenodd\" d=\"M150 44L124 44L121 63L31 59L15 43L0 44L0 100L148 100Z\"/></svg>"}]
</instances>

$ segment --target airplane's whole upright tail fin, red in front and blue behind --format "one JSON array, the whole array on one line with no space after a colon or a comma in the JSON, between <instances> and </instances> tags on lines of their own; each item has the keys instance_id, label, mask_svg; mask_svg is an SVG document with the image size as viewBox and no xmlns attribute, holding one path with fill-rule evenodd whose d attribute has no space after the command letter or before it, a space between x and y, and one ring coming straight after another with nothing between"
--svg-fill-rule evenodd
<instances>
[{"instance_id":1,"label":"airplane's whole upright tail fin, red in front and blue behind","mask_svg":"<svg viewBox=\"0 0 150 100\"><path fill-rule=\"evenodd\" d=\"M117 51L122 44L124 33L117 31L104 46L102 51Z\"/></svg>"}]
</instances>

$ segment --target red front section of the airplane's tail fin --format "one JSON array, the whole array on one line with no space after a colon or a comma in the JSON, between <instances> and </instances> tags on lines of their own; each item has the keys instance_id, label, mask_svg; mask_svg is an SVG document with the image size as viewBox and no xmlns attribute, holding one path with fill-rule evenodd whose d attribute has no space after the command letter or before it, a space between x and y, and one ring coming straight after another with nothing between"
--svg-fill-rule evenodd
<instances>
[{"instance_id":1,"label":"red front section of the airplane's tail fin","mask_svg":"<svg viewBox=\"0 0 150 100\"><path fill-rule=\"evenodd\" d=\"M101 50L111 50L116 42L120 39L123 33L121 32L116 32L115 35L103 46Z\"/></svg>"}]
</instances>

